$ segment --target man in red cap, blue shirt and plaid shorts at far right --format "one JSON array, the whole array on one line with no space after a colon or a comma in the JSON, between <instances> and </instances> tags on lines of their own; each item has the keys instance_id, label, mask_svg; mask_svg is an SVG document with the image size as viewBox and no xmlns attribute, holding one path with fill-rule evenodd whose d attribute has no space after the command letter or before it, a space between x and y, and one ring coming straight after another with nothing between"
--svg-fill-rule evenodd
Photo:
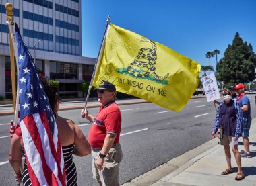
<instances>
[{"instance_id":1,"label":"man in red cap, blue shirt and plaid shorts at far right","mask_svg":"<svg viewBox=\"0 0 256 186\"><path fill-rule=\"evenodd\" d=\"M249 130L251 126L251 106L250 106L250 100L245 95L245 85L242 83L238 83L236 87L236 92L238 93L237 101L242 106L243 111L243 124L242 124L242 137L244 142L244 149L241 150L241 157L242 158L251 158L251 153L249 149Z\"/></svg>"}]
</instances>

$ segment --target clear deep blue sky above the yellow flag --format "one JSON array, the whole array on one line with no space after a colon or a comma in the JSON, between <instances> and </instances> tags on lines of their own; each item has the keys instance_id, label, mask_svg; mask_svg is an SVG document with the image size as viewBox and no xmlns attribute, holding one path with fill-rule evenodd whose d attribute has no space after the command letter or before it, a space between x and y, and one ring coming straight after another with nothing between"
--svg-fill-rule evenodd
<instances>
[{"instance_id":1,"label":"clear deep blue sky above the yellow flag","mask_svg":"<svg viewBox=\"0 0 256 186\"><path fill-rule=\"evenodd\" d=\"M256 50L255 0L81 0L82 56L97 58L110 22L209 65L208 51L223 57L236 32ZM255 52L256 53L256 52ZM216 68L216 57L211 58ZM202 74L203 72L201 72Z\"/></svg>"}]
</instances>

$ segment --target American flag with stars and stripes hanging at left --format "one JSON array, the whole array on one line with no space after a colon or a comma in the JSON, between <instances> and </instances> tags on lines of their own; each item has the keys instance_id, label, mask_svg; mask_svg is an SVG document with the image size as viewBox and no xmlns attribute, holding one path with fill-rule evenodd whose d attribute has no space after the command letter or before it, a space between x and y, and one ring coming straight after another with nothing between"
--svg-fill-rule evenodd
<instances>
[{"instance_id":1,"label":"American flag with stars and stripes hanging at left","mask_svg":"<svg viewBox=\"0 0 256 186\"><path fill-rule=\"evenodd\" d=\"M49 99L17 24L11 22L9 30L19 68L17 109L32 185L66 185L61 143Z\"/></svg>"}]
</instances>

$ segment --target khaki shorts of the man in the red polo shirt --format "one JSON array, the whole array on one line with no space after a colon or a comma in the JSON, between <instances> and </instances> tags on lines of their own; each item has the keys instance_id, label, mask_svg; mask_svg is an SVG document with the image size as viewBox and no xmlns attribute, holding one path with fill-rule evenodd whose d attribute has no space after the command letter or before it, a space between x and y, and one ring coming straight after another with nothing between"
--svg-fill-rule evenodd
<instances>
[{"instance_id":1,"label":"khaki shorts of the man in the red polo shirt","mask_svg":"<svg viewBox=\"0 0 256 186\"><path fill-rule=\"evenodd\" d=\"M92 149L92 175L97 181L100 181L102 185L113 186L119 185L119 163L123 158L123 152L121 145L114 144L112 148L106 154L103 163L103 171L97 169L95 162L99 158L100 148Z\"/></svg>"}]
</instances>

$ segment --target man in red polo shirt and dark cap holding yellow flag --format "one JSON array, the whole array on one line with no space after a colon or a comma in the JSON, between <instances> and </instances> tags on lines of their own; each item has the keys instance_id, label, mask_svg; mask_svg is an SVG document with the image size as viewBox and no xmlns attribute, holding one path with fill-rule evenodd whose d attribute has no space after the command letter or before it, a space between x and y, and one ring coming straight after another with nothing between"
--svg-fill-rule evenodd
<instances>
[{"instance_id":1,"label":"man in red polo shirt and dark cap holding yellow flag","mask_svg":"<svg viewBox=\"0 0 256 186\"><path fill-rule=\"evenodd\" d=\"M90 115L87 108L81 111L83 118L93 122L88 137L92 146L92 172L100 185L115 186L119 185L119 163L123 158L119 144L121 111L115 103L115 85L102 80L96 90L102 104L98 114Z\"/></svg>"}]
</instances>

